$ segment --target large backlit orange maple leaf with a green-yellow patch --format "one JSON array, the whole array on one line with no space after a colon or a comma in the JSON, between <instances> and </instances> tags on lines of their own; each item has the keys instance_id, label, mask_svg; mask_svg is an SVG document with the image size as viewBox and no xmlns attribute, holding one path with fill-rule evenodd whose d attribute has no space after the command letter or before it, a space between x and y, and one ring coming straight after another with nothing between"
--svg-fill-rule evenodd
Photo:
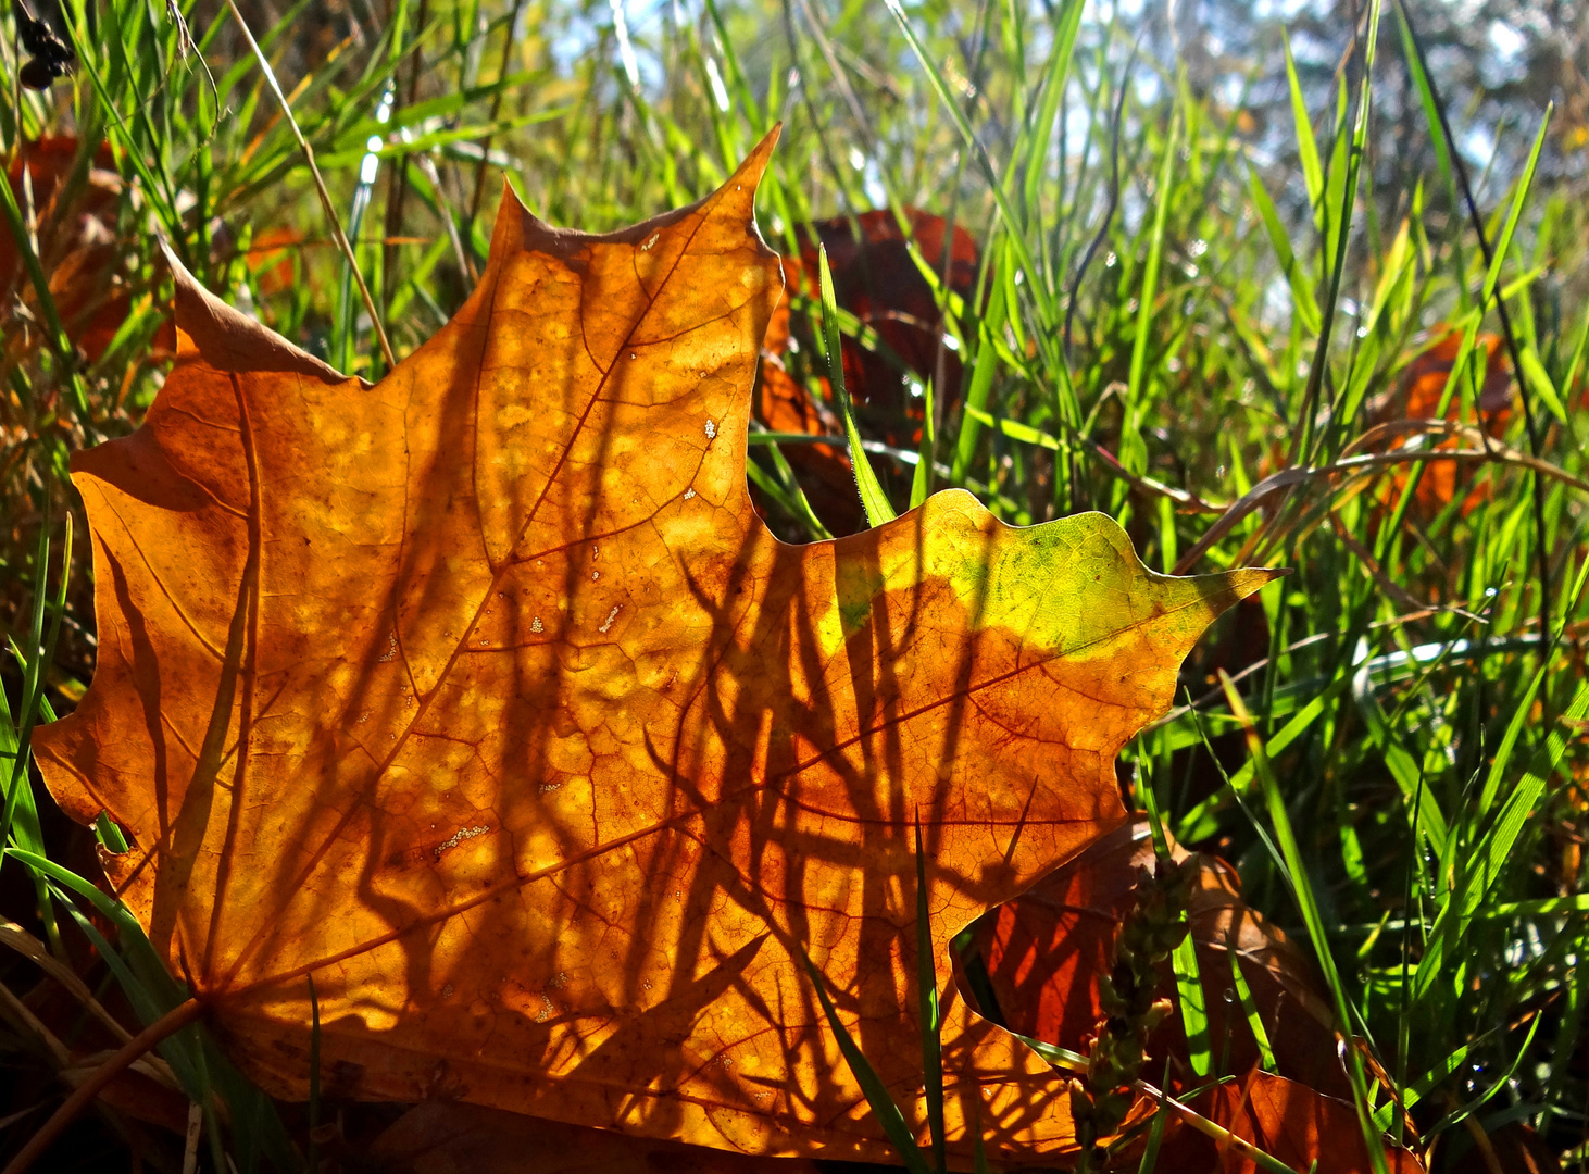
<instances>
[{"instance_id":1,"label":"large backlit orange maple leaf with a green-yellow patch","mask_svg":"<svg viewBox=\"0 0 1589 1174\"><path fill-rule=\"evenodd\" d=\"M766 1155L890 1160L804 974L925 1130L915 853L949 937L1122 823L1114 756L1276 572L1166 578L1111 519L966 492L788 546L745 489L779 297L772 137L609 235L504 197L458 316L375 388L178 268L178 362L76 459L100 659L56 799L232 1056ZM949 1131L1073 1144L952 1002ZM968 1125L971 1123L971 1125Z\"/></svg>"}]
</instances>

